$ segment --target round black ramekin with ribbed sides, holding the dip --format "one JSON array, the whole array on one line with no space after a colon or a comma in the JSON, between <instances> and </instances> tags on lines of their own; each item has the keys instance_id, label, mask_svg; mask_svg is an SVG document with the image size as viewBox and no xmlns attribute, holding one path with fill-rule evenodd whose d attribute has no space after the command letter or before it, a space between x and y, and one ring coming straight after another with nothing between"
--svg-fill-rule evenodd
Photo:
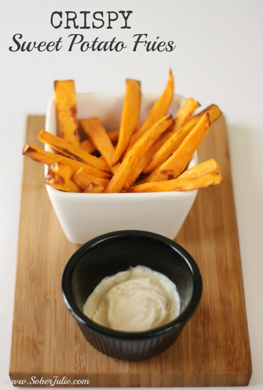
<instances>
[{"instance_id":1,"label":"round black ramekin with ribbed sides, holding the dip","mask_svg":"<svg viewBox=\"0 0 263 390\"><path fill-rule=\"evenodd\" d=\"M181 311L168 324L150 331L125 332L101 326L82 312L82 306L105 277L143 265L175 283ZM195 312L202 293L199 268L179 244L159 234L125 230L100 235L82 245L68 261L62 276L68 310L88 342L106 355L141 360L165 351Z\"/></svg>"}]
</instances>

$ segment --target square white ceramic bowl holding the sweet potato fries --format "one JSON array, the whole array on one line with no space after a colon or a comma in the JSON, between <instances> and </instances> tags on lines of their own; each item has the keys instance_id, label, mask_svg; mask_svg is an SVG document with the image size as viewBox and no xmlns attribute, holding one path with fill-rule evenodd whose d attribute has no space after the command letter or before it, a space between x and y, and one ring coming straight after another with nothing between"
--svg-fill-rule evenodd
<instances>
[{"instance_id":1,"label":"square white ceramic bowl holding the sweet potato fries","mask_svg":"<svg viewBox=\"0 0 263 390\"><path fill-rule=\"evenodd\" d=\"M142 95L141 122L159 95ZM119 127L124 96L77 94L78 119L99 117L107 130ZM175 95L169 112L174 116L184 98ZM49 102L45 130L57 133L56 101ZM59 134L59 131L58 131ZM49 148L47 148L49 150ZM197 164L195 153L189 167ZM45 166L45 175L47 166ZM185 192L83 194L50 186L47 192L67 238L83 244L97 235L118 230L144 230L173 239L194 202L197 190Z\"/></svg>"}]
</instances>

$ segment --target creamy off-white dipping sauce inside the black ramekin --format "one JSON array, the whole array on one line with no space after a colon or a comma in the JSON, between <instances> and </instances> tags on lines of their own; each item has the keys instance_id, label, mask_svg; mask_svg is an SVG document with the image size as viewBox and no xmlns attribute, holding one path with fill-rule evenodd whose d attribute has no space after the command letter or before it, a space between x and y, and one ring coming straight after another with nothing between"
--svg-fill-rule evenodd
<instances>
[{"instance_id":1,"label":"creamy off-white dipping sauce inside the black ramekin","mask_svg":"<svg viewBox=\"0 0 263 390\"><path fill-rule=\"evenodd\" d=\"M119 331L146 331L180 313L175 284L164 274L137 266L102 279L83 305L95 322Z\"/></svg>"}]
</instances>

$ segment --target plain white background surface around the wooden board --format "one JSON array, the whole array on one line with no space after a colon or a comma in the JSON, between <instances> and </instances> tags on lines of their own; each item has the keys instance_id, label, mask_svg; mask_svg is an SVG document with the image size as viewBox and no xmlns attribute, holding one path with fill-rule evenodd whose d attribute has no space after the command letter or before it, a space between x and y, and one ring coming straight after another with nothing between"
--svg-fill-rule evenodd
<instances>
[{"instance_id":1,"label":"plain white background surface around the wooden board","mask_svg":"<svg viewBox=\"0 0 263 390\"><path fill-rule=\"evenodd\" d=\"M132 10L131 30L55 30L53 11ZM55 79L75 79L77 92L124 91L125 78L159 93L173 70L176 93L225 114L234 185L253 374L249 387L263 389L263 1L1 1L0 23L0 389L8 382L26 117L44 114ZM82 25L82 19L79 20ZM63 25L64 26L64 25ZM123 40L120 53L68 52L68 35ZM23 40L57 40L59 52L11 53L14 34ZM132 51L132 35L174 40L172 53ZM40 205L39 205L40 207ZM39 237L41 239L41 237Z\"/></svg>"}]
</instances>

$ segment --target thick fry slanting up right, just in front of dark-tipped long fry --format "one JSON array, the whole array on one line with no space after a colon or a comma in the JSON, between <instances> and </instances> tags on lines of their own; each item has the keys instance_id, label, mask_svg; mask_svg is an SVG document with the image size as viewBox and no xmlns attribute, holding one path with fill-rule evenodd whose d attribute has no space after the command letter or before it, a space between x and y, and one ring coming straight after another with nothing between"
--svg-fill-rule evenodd
<instances>
[{"instance_id":1,"label":"thick fry slanting up right, just in front of dark-tipped long fry","mask_svg":"<svg viewBox=\"0 0 263 390\"><path fill-rule=\"evenodd\" d=\"M206 137L210 129L210 120L208 112L201 117L197 125L190 131L181 145L175 152L156 168L146 182L167 180L170 177L170 171L174 171L173 178L179 176L186 168L189 160L193 156L195 150Z\"/></svg>"}]
</instances>

